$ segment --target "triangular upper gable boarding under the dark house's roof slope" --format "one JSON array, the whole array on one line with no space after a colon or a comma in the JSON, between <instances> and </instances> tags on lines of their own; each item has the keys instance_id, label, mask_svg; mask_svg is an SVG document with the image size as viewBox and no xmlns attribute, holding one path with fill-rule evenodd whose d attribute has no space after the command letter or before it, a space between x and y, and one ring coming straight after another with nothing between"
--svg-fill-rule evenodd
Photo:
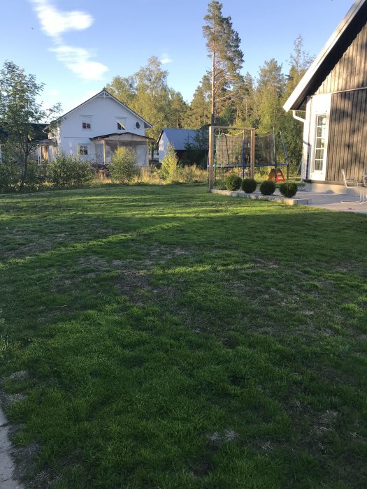
<instances>
[{"instance_id":1,"label":"triangular upper gable boarding under the dark house's roof slope","mask_svg":"<svg viewBox=\"0 0 367 489\"><path fill-rule=\"evenodd\" d=\"M357 34L355 34L357 32ZM354 36L350 35L349 45L340 52L340 57L336 59L331 71L315 94L326 94L330 92L343 92L356 88L366 87L367 85L367 24L363 18L354 31Z\"/></svg>"}]
</instances>

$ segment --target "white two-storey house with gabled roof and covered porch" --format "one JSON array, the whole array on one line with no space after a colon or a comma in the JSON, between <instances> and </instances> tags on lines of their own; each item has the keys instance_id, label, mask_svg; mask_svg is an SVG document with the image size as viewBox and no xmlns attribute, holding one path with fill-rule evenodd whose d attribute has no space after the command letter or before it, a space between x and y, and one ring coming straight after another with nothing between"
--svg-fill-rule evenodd
<instances>
[{"instance_id":1,"label":"white two-storey house with gabled roof and covered porch","mask_svg":"<svg viewBox=\"0 0 367 489\"><path fill-rule=\"evenodd\" d=\"M136 150L138 165L147 166L150 138L145 129L150 127L134 110L102 90L59 118L54 133L39 141L38 161L52 161L55 154L64 152L103 165L110 162L117 147L130 146Z\"/></svg>"}]
</instances>

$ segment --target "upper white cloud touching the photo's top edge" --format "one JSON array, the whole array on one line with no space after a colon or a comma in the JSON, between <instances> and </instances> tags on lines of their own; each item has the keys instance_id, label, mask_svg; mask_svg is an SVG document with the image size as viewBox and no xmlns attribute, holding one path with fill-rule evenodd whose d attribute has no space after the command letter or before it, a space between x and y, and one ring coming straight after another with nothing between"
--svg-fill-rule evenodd
<instances>
[{"instance_id":1,"label":"upper white cloud touching the photo's top edge","mask_svg":"<svg viewBox=\"0 0 367 489\"><path fill-rule=\"evenodd\" d=\"M60 12L48 0L30 0L34 4L41 23L41 29L53 38L59 38L66 31L83 31L93 24L93 17L89 13L73 10Z\"/></svg>"}]
</instances>

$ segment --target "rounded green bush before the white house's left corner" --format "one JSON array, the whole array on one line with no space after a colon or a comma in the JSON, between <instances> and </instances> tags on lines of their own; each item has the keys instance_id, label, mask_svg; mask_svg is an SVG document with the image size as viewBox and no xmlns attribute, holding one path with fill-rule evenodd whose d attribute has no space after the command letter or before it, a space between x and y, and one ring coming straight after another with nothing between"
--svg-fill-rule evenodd
<instances>
[{"instance_id":1,"label":"rounded green bush before the white house's left corner","mask_svg":"<svg viewBox=\"0 0 367 489\"><path fill-rule=\"evenodd\" d=\"M48 166L49 180L56 189L80 188L90 184L93 172L87 161L60 153Z\"/></svg>"}]
</instances>

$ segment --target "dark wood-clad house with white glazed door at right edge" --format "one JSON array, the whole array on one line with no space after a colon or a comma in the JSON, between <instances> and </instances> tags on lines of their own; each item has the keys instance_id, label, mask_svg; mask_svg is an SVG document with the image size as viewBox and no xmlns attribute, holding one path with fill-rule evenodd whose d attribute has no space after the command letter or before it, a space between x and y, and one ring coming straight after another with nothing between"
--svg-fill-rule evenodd
<instances>
[{"instance_id":1,"label":"dark wood-clad house with white glazed door at right edge","mask_svg":"<svg viewBox=\"0 0 367 489\"><path fill-rule=\"evenodd\" d=\"M367 0L357 0L283 106L304 124L302 177L343 191L367 168ZM303 111L303 117L296 115Z\"/></svg>"}]
</instances>

